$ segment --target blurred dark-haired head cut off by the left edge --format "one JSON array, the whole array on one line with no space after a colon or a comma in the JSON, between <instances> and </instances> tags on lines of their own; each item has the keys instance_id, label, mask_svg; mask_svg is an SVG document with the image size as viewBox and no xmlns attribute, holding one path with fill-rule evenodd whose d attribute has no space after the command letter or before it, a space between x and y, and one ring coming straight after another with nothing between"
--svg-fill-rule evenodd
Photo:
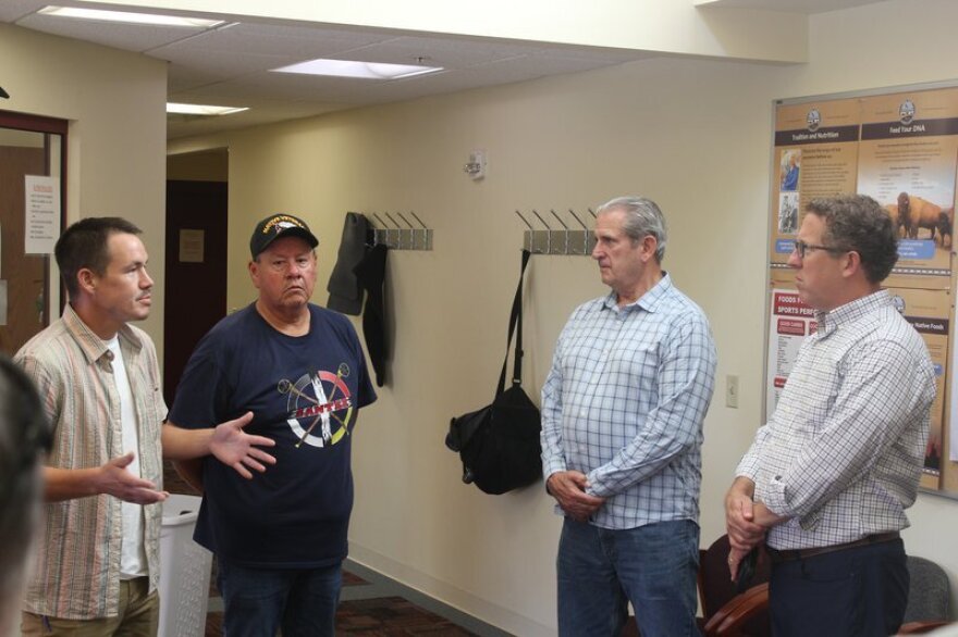
<instances>
[{"instance_id":1,"label":"blurred dark-haired head cut off by the left edge","mask_svg":"<svg viewBox=\"0 0 958 637\"><path fill-rule=\"evenodd\" d=\"M20 603L22 576L39 523L41 452L50 425L27 375L0 354L0 632L4 611Z\"/></svg>"}]
</instances>

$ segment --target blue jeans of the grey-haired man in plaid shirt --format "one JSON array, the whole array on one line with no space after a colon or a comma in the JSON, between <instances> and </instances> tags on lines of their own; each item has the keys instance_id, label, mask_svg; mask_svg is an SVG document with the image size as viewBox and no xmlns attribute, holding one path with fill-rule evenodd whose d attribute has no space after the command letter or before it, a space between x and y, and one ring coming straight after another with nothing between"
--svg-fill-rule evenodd
<instances>
[{"instance_id":1,"label":"blue jeans of the grey-haired man in plaid shirt","mask_svg":"<svg viewBox=\"0 0 958 637\"><path fill-rule=\"evenodd\" d=\"M699 634L691 520L613 530L566 517L556 570L561 636L617 637L629 601L642 637Z\"/></svg>"}]
</instances>

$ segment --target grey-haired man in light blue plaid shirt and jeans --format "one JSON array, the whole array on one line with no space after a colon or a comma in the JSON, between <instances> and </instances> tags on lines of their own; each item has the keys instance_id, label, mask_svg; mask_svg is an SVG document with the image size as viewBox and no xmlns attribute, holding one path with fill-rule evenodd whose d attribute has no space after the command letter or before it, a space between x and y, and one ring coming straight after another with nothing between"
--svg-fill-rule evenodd
<instances>
[{"instance_id":1,"label":"grey-haired man in light blue plaid shirt and jeans","mask_svg":"<svg viewBox=\"0 0 958 637\"><path fill-rule=\"evenodd\" d=\"M565 516L558 633L619 635L627 603L646 637L698 635L702 421L715 347L701 309L661 268L654 202L599 209L612 291L573 312L542 388L545 486Z\"/></svg>"}]
</instances>

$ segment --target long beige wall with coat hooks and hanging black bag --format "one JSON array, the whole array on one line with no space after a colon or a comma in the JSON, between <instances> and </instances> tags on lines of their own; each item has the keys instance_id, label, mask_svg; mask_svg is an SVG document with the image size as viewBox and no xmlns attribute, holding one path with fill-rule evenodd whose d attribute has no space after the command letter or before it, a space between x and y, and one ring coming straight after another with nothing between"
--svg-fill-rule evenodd
<instances>
[{"instance_id":1,"label":"long beige wall with coat hooks and hanging black bag","mask_svg":"<svg viewBox=\"0 0 958 637\"><path fill-rule=\"evenodd\" d=\"M524 229L513 211L582 210L623 193L662 205L665 266L712 322L720 383L701 524L703 542L721 535L722 497L761 423L772 101L954 80L958 40L945 25L958 7L912 8L813 18L802 66L660 59L174 142L173 152L230 148L231 307L254 298L245 246L267 213L302 214L320 235L319 302L346 211L414 210L435 228L433 251L390 254L393 383L355 434L353 557L512 633L554 632L551 500L539 487L489 497L459 484L443 436L450 416L491 399ZM900 37L906 17L926 45ZM480 183L462 171L472 148L488 151ZM528 277L526 384L537 395L568 313L603 288L585 258L535 257ZM740 378L739 409L724 407L727 374ZM941 541L958 503L921 496L911 517L910 551L958 574L958 552Z\"/></svg>"}]
</instances>

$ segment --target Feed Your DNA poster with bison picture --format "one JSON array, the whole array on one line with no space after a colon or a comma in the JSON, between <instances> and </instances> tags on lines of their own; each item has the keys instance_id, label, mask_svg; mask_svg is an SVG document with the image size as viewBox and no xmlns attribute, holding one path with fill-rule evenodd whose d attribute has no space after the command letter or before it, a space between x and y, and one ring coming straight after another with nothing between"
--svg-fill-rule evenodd
<instances>
[{"instance_id":1,"label":"Feed Your DNA poster with bison picture","mask_svg":"<svg viewBox=\"0 0 958 637\"><path fill-rule=\"evenodd\" d=\"M888 285L947 289L958 167L958 89L862 99L858 191L900 236Z\"/></svg>"}]
</instances>

